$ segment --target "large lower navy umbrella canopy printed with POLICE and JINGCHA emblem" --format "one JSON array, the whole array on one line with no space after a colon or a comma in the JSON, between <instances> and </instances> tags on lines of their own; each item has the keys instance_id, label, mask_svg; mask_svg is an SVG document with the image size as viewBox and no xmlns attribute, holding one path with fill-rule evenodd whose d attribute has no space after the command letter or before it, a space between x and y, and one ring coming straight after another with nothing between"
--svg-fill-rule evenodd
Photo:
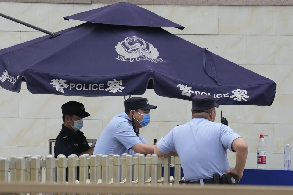
<instances>
[{"instance_id":1,"label":"large lower navy umbrella canopy printed with POLICE and JINGCHA emblem","mask_svg":"<svg viewBox=\"0 0 293 195\"><path fill-rule=\"evenodd\" d=\"M68 17L70 18L70 16ZM174 25L172 25L174 26ZM84 23L0 50L0 85L34 94L141 95L271 105L276 83L160 27Z\"/></svg>"}]
</instances>

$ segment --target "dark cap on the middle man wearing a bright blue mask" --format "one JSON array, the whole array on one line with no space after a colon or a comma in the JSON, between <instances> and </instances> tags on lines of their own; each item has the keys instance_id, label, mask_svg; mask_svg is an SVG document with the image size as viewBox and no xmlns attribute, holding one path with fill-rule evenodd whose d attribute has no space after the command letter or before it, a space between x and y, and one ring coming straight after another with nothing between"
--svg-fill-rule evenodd
<instances>
[{"instance_id":1,"label":"dark cap on the middle man wearing a bright blue mask","mask_svg":"<svg viewBox=\"0 0 293 195\"><path fill-rule=\"evenodd\" d=\"M152 110L156 109L157 106L152 106L147 101L147 98L141 98L141 97L132 97L128 98L124 101L124 108L125 112L129 112L131 110L137 110L137 109L144 109L144 110Z\"/></svg>"}]
</instances>

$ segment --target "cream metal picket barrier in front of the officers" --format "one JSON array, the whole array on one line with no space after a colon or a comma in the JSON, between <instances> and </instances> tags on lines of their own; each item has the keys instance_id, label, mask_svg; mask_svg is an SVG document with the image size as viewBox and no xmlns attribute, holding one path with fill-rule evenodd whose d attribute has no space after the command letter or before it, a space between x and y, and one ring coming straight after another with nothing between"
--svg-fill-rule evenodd
<instances>
[{"instance_id":1,"label":"cream metal picket barrier in front of the officers","mask_svg":"<svg viewBox=\"0 0 293 195\"><path fill-rule=\"evenodd\" d=\"M175 175L170 177L170 165L174 165ZM161 168L164 166L164 176ZM76 180L79 167L79 181ZM45 168L45 181L42 181L42 168ZM57 168L57 171L55 169ZM68 169L68 174L66 169ZM66 158L58 155L12 156L10 159L0 157L0 182L34 182L34 183L69 183L69 184L132 184L132 185L178 185L181 179L179 157L159 158L156 154L136 153L115 155L77 155ZM55 176L57 174L57 177ZM68 180L66 181L66 177Z\"/></svg>"}]
</instances>

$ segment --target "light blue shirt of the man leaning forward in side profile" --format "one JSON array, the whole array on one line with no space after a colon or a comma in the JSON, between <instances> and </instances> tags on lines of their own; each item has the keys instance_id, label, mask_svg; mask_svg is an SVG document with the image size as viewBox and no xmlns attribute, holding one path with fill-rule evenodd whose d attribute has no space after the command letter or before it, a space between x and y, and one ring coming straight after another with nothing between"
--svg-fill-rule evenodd
<instances>
[{"instance_id":1,"label":"light blue shirt of the man leaning forward in side profile","mask_svg":"<svg viewBox=\"0 0 293 195\"><path fill-rule=\"evenodd\" d=\"M131 149L138 143L146 144L147 141L139 134L134 133L131 120L125 112L118 114L108 123L100 134L94 149L95 154L135 154Z\"/></svg>"}]
</instances>

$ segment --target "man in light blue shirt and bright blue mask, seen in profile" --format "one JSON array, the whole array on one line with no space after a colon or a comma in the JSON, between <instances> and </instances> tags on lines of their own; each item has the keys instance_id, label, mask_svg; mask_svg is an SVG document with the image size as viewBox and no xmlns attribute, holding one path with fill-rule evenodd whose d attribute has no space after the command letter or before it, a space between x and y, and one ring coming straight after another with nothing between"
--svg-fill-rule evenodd
<instances>
[{"instance_id":1,"label":"man in light blue shirt and bright blue mask, seen in profile","mask_svg":"<svg viewBox=\"0 0 293 195\"><path fill-rule=\"evenodd\" d=\"M124 101L125 112L114 116L100 134L93 154L154 154L154 145L139 134L150 122L150 110L156 109L147 98L132 97Z\"/></svg>"}]
</instances>

